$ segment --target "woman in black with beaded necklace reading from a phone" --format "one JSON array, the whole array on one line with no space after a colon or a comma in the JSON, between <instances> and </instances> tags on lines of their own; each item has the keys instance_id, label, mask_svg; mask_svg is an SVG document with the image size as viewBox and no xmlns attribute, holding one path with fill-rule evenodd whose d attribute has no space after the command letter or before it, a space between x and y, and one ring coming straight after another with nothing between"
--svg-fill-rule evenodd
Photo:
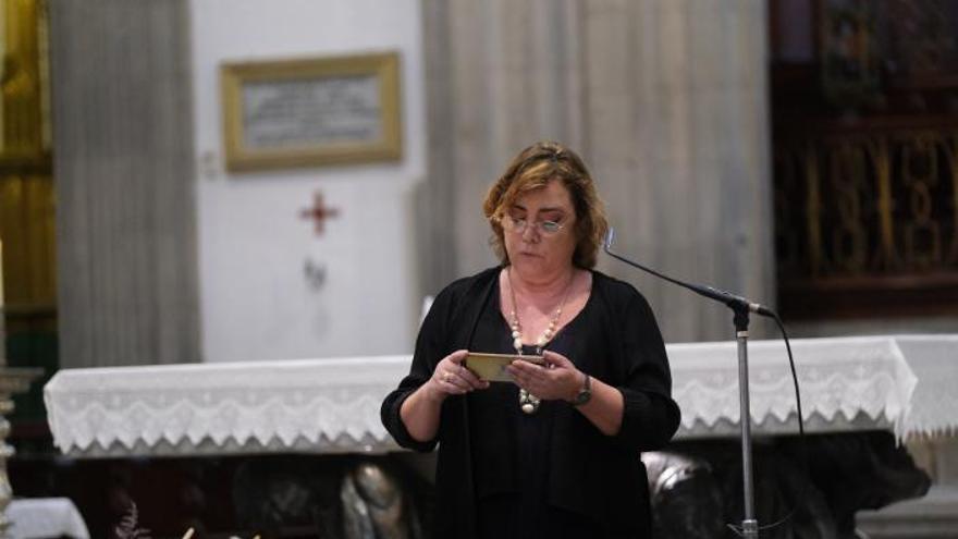
<instances>
[{"instance_id":1,"label":"woman in black with beaded necklace reading from a phone","mask_svg":"<svg viewBox=\"0 0 958 539\"><path fill-rule=\"evenodd\" d=\"M435 537L649 537L639 452L672 438L679 411L648 303L591 269L606 221L586 166L532 145L483 210L502 265L437 296L382 405L401 445L439 444ZM467 351L545 364L513 362L515 384L489 383Z\"/></svg>"}]
</instances>

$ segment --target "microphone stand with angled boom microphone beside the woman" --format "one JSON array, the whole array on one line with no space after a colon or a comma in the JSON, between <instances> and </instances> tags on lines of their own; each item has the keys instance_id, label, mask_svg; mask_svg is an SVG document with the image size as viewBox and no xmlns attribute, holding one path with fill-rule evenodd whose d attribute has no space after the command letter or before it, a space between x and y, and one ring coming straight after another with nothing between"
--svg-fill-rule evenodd
<instances>
[{"instance_id":1,"label":"microphone stand with angled boom microphone beside the woman","mask_svg":"<svg viewBox=\"0 0 958 539\"><path fill-rule=\"evenodd\" d=\"M763 305L751 303L745 297L701 284L686 283L668 275L662 274L651 268L634 262L612 252L614 229L609 229L605 235L605 253L629 266L664 279L673 284L688 289L710 299L724 303L732 309L733 323L735 324L735 341L738 347L738 396L739 396L739 425L741 426L741 481L742 495L745 497L745 514L741 520L739 535L746 539L758 539L759 522L756 519L753 476L752 476L752 438L751 438L751 408L749 404L748 388L748 326L749 313L774 317L774 314Z\"/></svg>"}]
</instances>

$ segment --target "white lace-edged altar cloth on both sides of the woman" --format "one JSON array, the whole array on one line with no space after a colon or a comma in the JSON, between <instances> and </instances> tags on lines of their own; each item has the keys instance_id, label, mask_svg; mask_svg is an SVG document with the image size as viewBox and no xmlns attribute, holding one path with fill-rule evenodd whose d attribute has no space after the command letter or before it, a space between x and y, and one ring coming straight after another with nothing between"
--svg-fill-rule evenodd
<instances>
[{"instance_id":1,"label":"white lace-edged altar cloth on both sides of the woman","mask_svg":"<svg viewBox=\"0 0 958 539\"><path fill-rule=\"evenodd\" d=\"M680 438L737 436L734 342L672 344ZM958 427L958 335L793 341L810 432ZM54 444L83 456L396 449L379 418L409 356L59 371L44 389ZM795 432L784 343L749 345L757 434ZM918 376L916 376L918 373Z\"/></svg>"}]
</instances>

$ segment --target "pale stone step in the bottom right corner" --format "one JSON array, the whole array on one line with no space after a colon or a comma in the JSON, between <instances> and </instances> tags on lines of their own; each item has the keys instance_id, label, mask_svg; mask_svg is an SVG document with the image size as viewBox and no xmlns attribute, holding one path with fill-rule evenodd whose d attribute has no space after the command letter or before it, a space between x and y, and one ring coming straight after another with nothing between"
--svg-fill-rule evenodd
<instances>
[{"instance_id":1,"label":"pale stone step in the bottom right corner","mask_svg":"<svg viewBox=\"0 0 958 539\"><path fill-rule=\"evenodd\" d=\"M924 498L861 511L857 522L868 539L958 538L958 486L935 485Z\"/></svg>"}]
</instances>

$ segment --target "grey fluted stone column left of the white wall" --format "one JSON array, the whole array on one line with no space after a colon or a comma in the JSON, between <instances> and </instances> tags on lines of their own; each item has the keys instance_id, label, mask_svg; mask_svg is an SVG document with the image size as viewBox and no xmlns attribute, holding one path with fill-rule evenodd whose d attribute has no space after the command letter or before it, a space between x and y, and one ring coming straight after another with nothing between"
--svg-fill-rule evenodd
<instances>
[{"instance_id":1,"label":"grey fluted stone column left of the white wall","mask_svg":"<svg viewBox=\"0 0 958 539\"><path fill-rule=\"evenodd\" d=\"M199 360L186 0L52 0L61 367Z\"/></svg>"}]
</instances>

